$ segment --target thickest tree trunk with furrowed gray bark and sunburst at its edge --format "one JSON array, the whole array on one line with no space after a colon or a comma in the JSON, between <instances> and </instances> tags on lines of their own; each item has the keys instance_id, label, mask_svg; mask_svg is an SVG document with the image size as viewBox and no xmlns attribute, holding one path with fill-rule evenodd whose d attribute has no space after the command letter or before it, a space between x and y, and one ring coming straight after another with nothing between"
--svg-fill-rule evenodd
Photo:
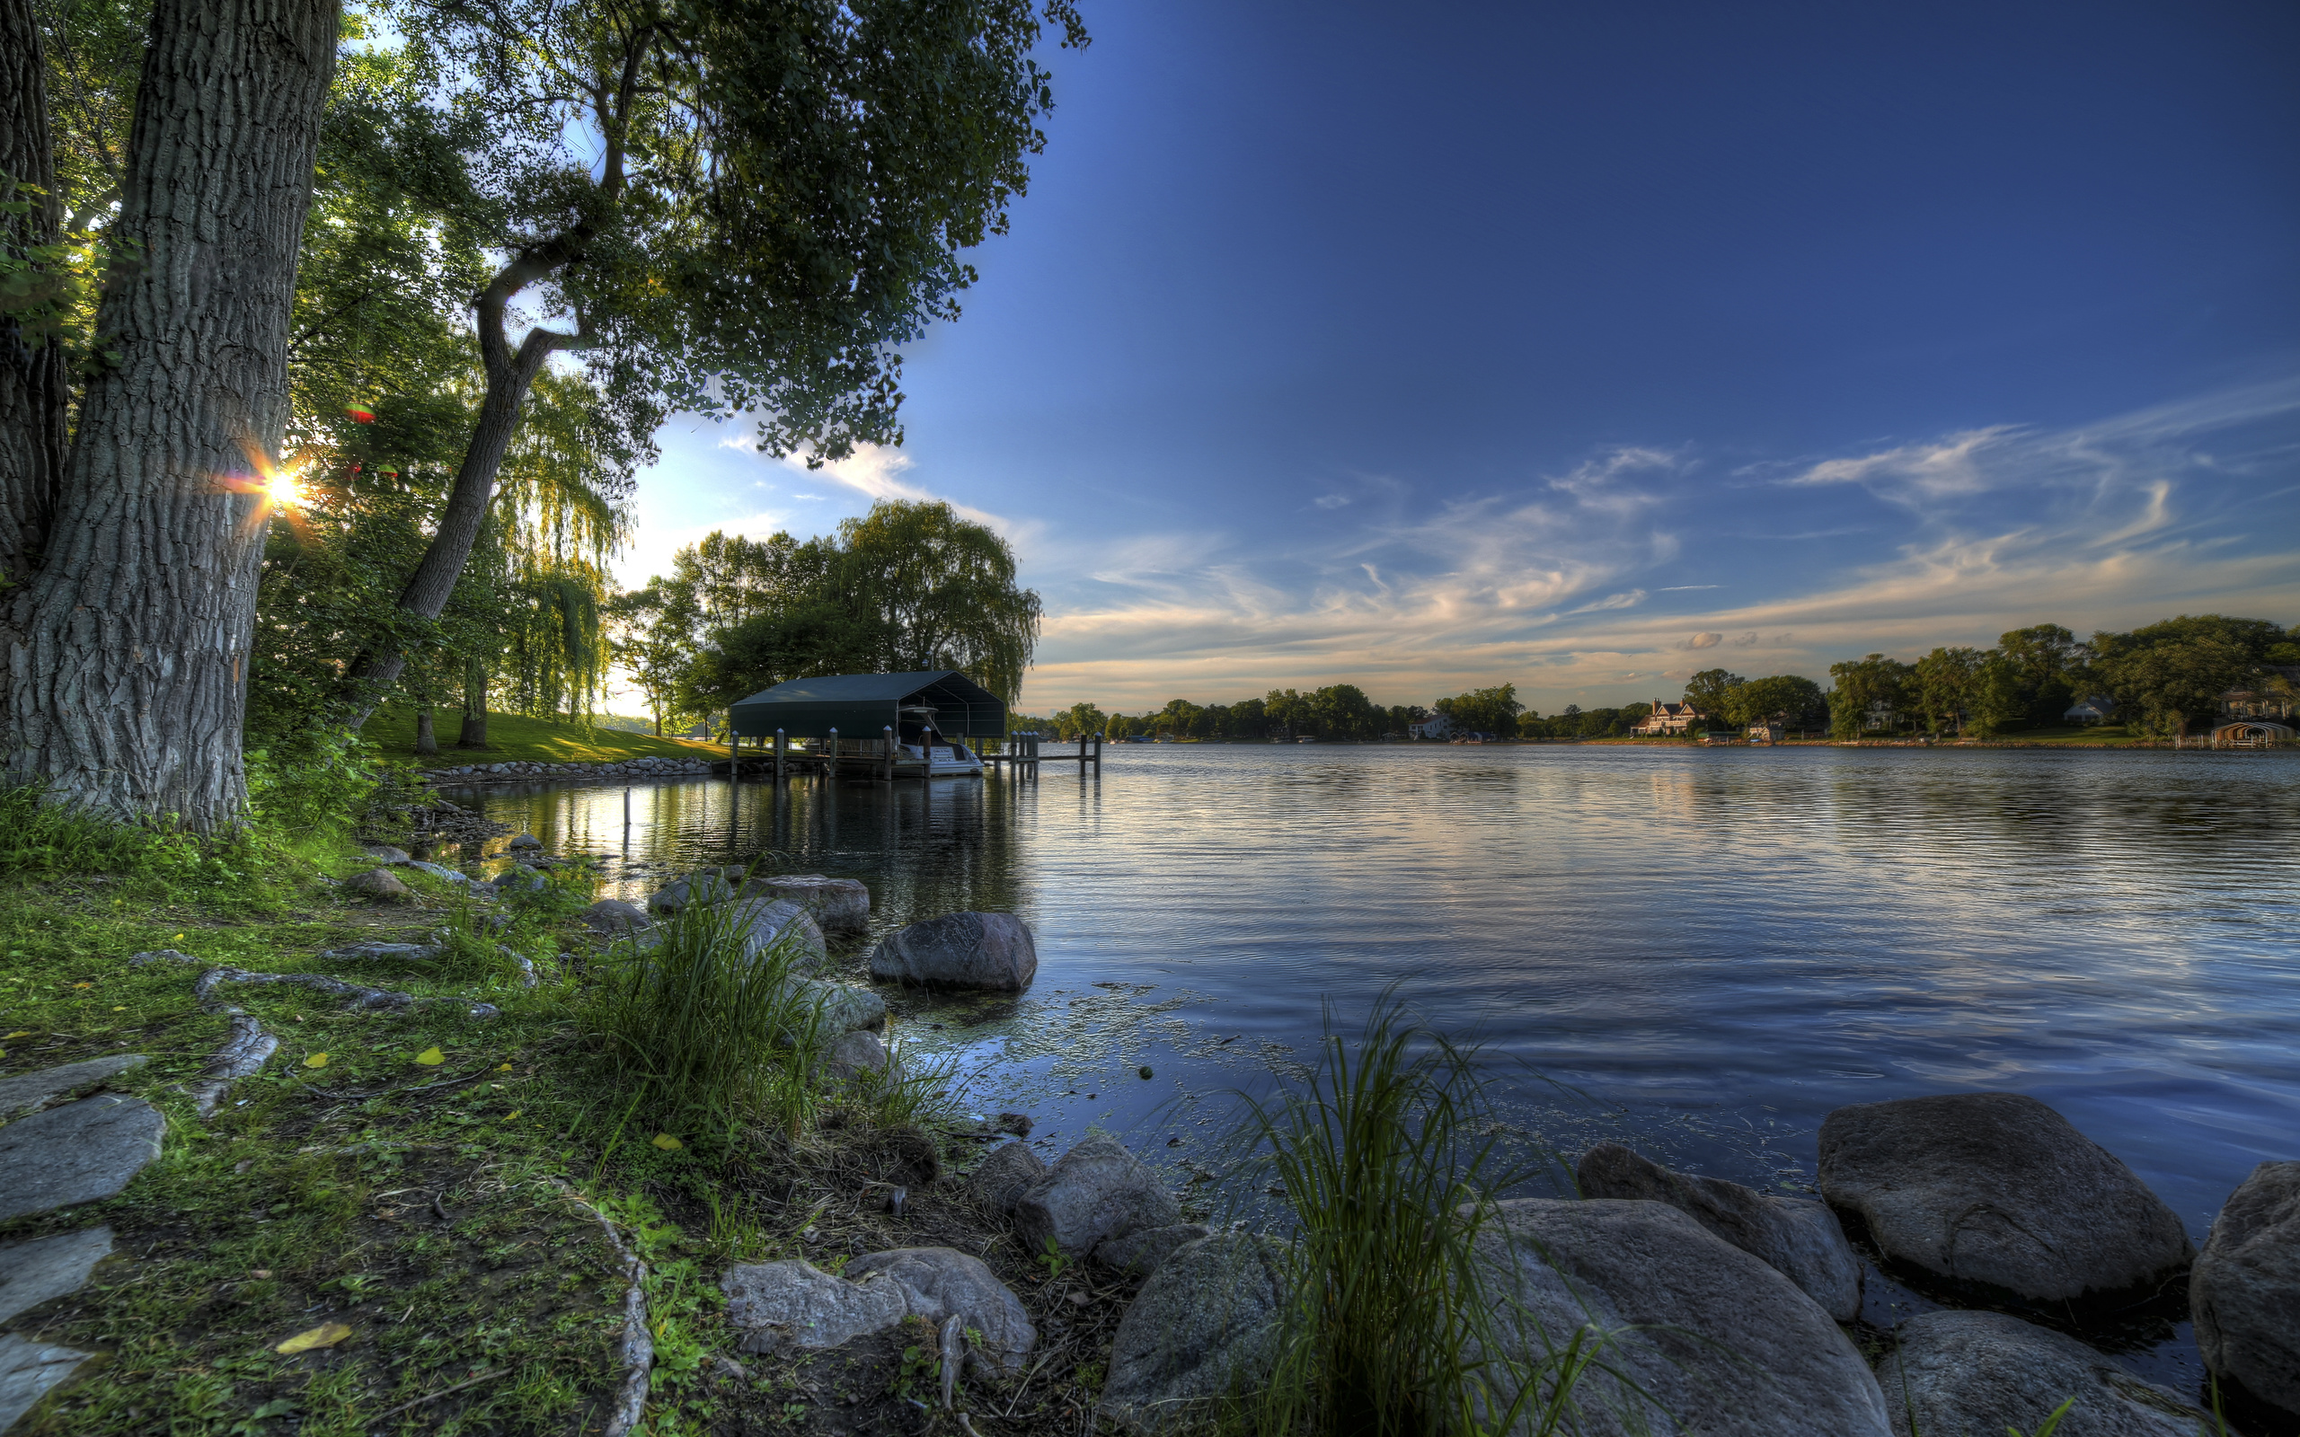
<instances>
[{"instance_id":1,"label":"thickest tree trunk with furrowed gray bark and sunburst at its edge","mask_svg":"<svg viewBox=\"0 0 2300 1437\"><path fill-rule=\"evenodd\" d=\"M46 552L5 621L7 770L207 832L246 800L241 720L288 317L336 0L159 0ZM237 476L237 478L232 478Z\"/></svg>"}]
</instances>

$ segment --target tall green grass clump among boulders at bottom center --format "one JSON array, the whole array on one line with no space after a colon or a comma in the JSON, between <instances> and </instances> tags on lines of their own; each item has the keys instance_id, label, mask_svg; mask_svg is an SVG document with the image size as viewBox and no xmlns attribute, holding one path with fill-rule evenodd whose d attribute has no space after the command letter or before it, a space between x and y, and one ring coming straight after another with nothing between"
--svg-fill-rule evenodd
<instances>
[{"instance_id":1,"label":"tall green grass clump among boulders at bottom center","mask_svg":"<svg viewBox=\"0 0 2300 1437\"><path fill-rule=\"evenodd\" d=\"M1394 991L1355 1046L1329 1019L1309 1074L1247 1101L1240 1140L1293 1209L1293 1299L1270 1384L1226 1428L1477 1437L1571 1423L1573 1384L1603 1368L1610 1334L1550 1343L1488 1281L1479 1239L1497 1225L1495 1193L1536 1170L1504 1131L1477 1048L1414 1023Z\"/></svg>"}]
</instances>

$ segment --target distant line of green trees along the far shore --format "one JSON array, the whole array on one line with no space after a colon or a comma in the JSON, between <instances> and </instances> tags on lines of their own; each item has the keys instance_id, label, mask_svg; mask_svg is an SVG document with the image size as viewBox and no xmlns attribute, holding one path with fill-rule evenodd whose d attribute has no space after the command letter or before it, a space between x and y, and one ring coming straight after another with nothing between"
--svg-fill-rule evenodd
<instances>
[{"instance_id":1,"label":"distant line of green trees along the far shore","mask_svg":"<svg viewBox=\"0 0 2300 1437\"><path fill-rule=\"evenodd\" d=\"M1727 669L1702 669L1686 678L1684 704L1700 715L1700 729L1741 731L1780 724L1789 733L1828 731L1835 738L1964 733L1989 738L2019 729L2065 722L2068 708L2086 697L2114 699L2118 722L2144 736L2185 733L2210 722L2222 694L2240 687L2291 694L2291 676L2279 667L2300 664L2300 630L2266 618L2222 614L2180 616L2132 632L2095 632L2077 639L2058 623L2017 628L1994 648L1939 646L1916 662L1881 653L1828 667L1831 685L1799 674L1743 678ZM1014 731L1106 733L1113 740L1378 740L1403 738L1410 724L1444 715L1454 733L1497 738L1626 738L1654 713L1647 704L1580 708L1543 717L1518 704L1511 683L1438 699L1428 708L1373 704L1364 690L1336 683L1311 692L1270 690L1237 704L1168 699L1141 715L1104 713L1074 704L1060 713L1014 715Z\"/></svg>"}]
</instances>

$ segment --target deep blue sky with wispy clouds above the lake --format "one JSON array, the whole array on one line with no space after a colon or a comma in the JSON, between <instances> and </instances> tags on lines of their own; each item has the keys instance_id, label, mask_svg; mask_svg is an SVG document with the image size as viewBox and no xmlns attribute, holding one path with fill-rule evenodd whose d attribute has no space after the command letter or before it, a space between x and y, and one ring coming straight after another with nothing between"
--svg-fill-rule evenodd
<instances>
[{"instance_id":1,"label":"deep blue sky with wispy clouds above the lake","mask_svg":"<svg viewBox=\"0 0 2300 1437\"><path fill-rule=\"evenodd\" d=\"M906 444L674 421L626 579L943 497L1035 713L2300 623L2300 9L1086 14Z\"/></svg>"}]
</instances>

